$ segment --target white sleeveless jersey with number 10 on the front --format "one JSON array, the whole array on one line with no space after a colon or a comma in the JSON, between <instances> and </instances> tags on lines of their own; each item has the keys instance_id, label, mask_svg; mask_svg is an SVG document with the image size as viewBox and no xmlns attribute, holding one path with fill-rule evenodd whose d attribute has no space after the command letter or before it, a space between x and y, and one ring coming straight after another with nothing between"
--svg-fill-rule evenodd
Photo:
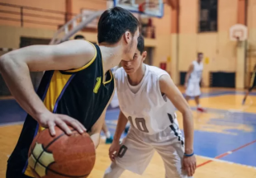
<instances>
[{"instance_id":1,"label":"white sleeveless jersey with number 10 on the front","mask_svg":"<svg viewBox=\"0 0 256 178\"><path fill-rule=\"evenodd\" d=\"M145 76L137 86L130 86L123 68L115 73L116 91L121 111L131 127L142 134L157 134L172 124L178 125L175 107L159 89L159 78L168 75L164 70L146 65Z\"/></svg>"}]
</instances>

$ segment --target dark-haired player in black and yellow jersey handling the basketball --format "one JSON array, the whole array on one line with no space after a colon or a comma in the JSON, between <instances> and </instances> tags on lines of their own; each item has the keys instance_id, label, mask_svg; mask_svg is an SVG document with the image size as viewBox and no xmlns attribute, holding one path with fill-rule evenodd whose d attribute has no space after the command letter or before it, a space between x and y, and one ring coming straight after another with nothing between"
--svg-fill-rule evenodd
<instances>
[{"instance_id":1,"label":"dark-haired player in black and yellow jersey handling the basketball","mask_svg":"<svg viewBox=\"0 0 256 178\"><path fill-rule=\"evenodd\" d=\"M87 131L97 148L107 105L114 91L111 68L133 59L139 21L130 12L114 7L98 22L99 45L69 40L57 45L33 45L0 58L0 73L27 116L17 146L7 163L7 178L33 177L27 155L33 138L55 126L71 134ZM30 72L45 71L37 93Z\"/></svg>"}]
</instances>

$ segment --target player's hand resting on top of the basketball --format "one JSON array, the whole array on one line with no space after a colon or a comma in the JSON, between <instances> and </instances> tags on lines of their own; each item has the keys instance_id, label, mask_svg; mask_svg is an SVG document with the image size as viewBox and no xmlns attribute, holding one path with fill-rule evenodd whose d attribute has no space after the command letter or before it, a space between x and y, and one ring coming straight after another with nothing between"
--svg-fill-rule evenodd
<instances>
[{"instance_id":1,"label":"player's hand resting on top of the basketball","mask_svg":"<svg viewBox=\"0 0 256 178\"><path fill-rule=\"evenodd\" d=\"M83 124L81 124L77 119L73 119L68 115L54 114L50 111L39 115L36 120L42 127L48 128L52 136L55 136L55 126L59 126L59 128L63 129L65 134L68 135L72 134L68 125L73 127L73 129L78 130L78 133L80 134L83 134L83 132L86 131Z\"/></svg>"}]
</instances>

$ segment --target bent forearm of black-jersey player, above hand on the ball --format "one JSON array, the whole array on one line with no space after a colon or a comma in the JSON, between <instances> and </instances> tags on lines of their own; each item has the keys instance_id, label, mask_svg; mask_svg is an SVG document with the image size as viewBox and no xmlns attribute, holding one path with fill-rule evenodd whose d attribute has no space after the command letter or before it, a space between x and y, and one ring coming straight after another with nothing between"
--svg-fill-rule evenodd
<instances>
[{"instance_id":1,"label":"bent forearm of black-jersey player, above hand on the ball","mask_svg":"<svg viewBox=\"0 0 256 178\"><path fill-rule=\"evenodd\" d=\"M14 62L9 55L4 55L0 58L0 72L12 96L29 115L37 119L47 111L34 91L26 63Z\"/></svg>"}]
</instances>

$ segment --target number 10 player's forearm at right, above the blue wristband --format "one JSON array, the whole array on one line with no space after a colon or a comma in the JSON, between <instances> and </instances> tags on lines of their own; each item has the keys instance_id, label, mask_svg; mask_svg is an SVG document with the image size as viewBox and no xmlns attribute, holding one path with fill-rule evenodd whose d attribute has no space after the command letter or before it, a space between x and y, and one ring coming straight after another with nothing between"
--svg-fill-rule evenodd
<instances>
[{"instance_id":1,"label":"number 10 player's forearm at right, above the blue wristband","mask_svg":"<svg viewBox=\"0 0 256 178\"><path fill-rule=\"evenodd\" d=\"M194 127L191 110L183 113L183 128L185 134L185 152L191 154L193 152Z\"/></svg>"}]
</instances>

